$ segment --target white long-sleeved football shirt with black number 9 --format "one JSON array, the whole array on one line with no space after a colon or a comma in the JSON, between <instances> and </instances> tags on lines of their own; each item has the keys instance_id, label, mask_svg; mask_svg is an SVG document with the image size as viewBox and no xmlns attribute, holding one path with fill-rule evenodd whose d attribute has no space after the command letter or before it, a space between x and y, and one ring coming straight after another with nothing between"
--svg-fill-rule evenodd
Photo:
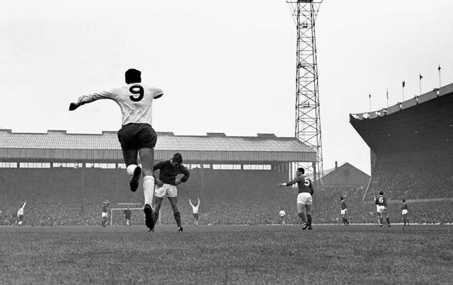
<instances>
[{"instance_id":1,"label":"white long-sleeved football shirt with black number 9","mask_svg":"<svg viewBox=\"0 0 453 285\"><path fill-rule=\"evenodd\" d=\"M163 94L164 91L159 88L145 86L142 83L131 83L111 91L82 95L77 103L84 105L99 99L111 99L120 106L123 126L130 123L144 123L152 126L153 99Z\"/></svg>"}]
</instances>

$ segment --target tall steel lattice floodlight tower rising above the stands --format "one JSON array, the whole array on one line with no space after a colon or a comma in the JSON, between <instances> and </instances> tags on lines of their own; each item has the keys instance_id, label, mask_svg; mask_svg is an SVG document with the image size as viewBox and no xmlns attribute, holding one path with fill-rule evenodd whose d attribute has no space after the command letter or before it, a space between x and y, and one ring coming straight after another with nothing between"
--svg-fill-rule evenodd
<instances>
[{"instance_id":1,"label":"tall steel lattice floodlight tower rising above the stands","mask_svg":"<svg viewBox=\"0 0 453 285\"><path fill-rule=\"evenodd\" d=\"M314 180L323 173L315 21L322 0L287 0L297 28L295 136L316 150L316 163L296 163Z\"/></svg>"}]
</instances>

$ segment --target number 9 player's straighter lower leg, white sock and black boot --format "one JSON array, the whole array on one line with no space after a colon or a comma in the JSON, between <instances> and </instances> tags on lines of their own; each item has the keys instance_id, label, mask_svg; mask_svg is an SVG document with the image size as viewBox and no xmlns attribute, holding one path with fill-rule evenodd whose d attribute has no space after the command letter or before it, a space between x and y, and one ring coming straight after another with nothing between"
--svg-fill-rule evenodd
<instances>
[{"instance_id":1,"label":"number 9 player's straighter lower leg, white sock and black boot","mask_svg":"<svg viewBox=\"0 0 453 285\"><path fill-rule=\"evenodd\" d=\"M153 175L153 163L154 163L154 148L142 148L139 149L140 161L142 162L143 168L143 194L144 194L144 216L145 225L150 231L154 230L154 218L153 209L151 205L153 203L154 195L154 175Z\"/></svg>"}]
</instances>

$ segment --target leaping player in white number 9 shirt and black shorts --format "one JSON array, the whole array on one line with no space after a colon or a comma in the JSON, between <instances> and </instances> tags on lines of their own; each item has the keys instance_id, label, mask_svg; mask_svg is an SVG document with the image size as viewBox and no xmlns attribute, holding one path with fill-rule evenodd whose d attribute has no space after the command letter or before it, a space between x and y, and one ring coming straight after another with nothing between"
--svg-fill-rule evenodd
<instances>
[{"instance_id":1,"label":"leaping player in white number 9 shirt and black shorts","mask_svg":"<svg viewBox=\"0 0 453 285\"><path fill-rule=\"evenodd\" d=\"M118 131L122 155L127 165L127 174L131 175L130 190L137 191L143 168L143 193L145 224L152 227L152 198L154 193L154 146L157 135L152 126L153 100L164 95L159 88L142 84L142 72L128 69L125 73L126 86L110 91L82 95L75 103L69 105L69 110L99 99L114 100L122 114L122 127ZM138 166L138 155L142 168Z\"/></svg>"}]
</instances>

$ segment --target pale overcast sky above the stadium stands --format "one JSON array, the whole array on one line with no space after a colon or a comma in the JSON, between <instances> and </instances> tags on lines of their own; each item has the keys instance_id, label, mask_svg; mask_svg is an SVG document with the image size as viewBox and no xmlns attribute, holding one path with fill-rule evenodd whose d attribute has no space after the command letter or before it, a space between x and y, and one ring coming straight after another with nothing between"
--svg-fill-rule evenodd
<instances>
[{"instance_id":1,"label":"pale overcast sky above the stadium stands","mask_svg":"<svg viewBox=\"0 0 453 285\"><path fill-rule=\"evenodd\" d=\"M93 4L94 3L94 4ZM453 81L453 1L335 1L316 20L324 169L370 173L349 113ZM68 112L79 95L124 84L129 68L164 90L158 132L294 136L296 28L284 0L0 1L0 127L100 133L116 103Z\"/></svg>"}]
</instances>

